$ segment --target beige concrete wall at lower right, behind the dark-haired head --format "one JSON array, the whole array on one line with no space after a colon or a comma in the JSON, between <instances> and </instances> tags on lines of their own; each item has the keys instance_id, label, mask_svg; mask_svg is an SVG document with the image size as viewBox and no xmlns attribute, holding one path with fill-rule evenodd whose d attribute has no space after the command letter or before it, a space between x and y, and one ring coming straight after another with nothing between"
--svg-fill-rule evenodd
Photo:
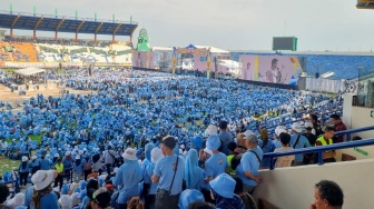
<instances>
[{"instance_id":1,"label":"beige concrete wall at lower right, behind the dark-haired head","mask_svg":"<svg viewBox=\"0 0 374 209\"><path fill-rule=\"evenodd\" d=\"M374 160L338 162L325 166L279 168L259 172L264 182L255 191L280 209L309 208L314 187L319 180L337 182L344 191L343 208L370 209L374 205Z\"/></svg>"}]
</instances>

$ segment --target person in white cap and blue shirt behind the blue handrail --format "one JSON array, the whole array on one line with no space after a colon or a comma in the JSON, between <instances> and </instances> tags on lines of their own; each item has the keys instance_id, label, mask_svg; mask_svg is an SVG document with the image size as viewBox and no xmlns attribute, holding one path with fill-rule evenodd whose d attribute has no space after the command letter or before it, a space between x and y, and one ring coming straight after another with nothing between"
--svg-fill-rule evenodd
<instances>
[{"instance_id":1,"label":"person in white cap and blue shirt behind the blue handrail","mask_svg":"<svg viewBox=\"0 0 374 209\"><path fill-rule=\"evenodd\" d=\"M308 139L302 135L302 126L299 122L294 122L292 125L293 135L291 136L289 147L293 149L308 148L311 143ZM295 160L292 166L302 166L303 165L303 153L295 155Z\"/></svg>"}]
</instances>

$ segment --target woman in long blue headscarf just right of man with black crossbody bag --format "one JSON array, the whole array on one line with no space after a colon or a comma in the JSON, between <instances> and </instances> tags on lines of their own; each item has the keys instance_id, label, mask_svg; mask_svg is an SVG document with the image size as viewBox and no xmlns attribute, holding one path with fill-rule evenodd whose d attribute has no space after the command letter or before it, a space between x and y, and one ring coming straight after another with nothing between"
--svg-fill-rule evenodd
<instances>
[{"instance_id":1,"label":"woman in long blue headscarf just right of man with black crossbody bag","mask_svg":"<svg viewBox=\"0 0 374 209\"><path fill-rule=\"evenodd\" d=\"M196 149L190 149L186 155L185 180L187 189L200 190L204 185L204 170L198 166Z\"/></svg>"}]
</instances>

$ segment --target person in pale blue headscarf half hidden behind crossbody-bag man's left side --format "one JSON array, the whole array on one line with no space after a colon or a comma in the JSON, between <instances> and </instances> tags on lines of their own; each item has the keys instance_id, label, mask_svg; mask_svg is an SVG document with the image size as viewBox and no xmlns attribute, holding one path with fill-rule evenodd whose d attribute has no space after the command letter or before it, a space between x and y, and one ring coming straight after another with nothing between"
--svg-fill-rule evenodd
<instances>
[{"instance_id":1,"label":"person in pale blue headscarf half hidden behind crossbody-bag man's left side","mask_svg":"<svg viewBox=\"0 0 374 209\"><path fill-rule=\"evenodd\" d=\"M163 151L159 148L154 148L150 151L151 163L148 165L146 170L145 170L145 173L146 173L145 176L147 176L147 178L151 178L154 176L155 166L156 166L157 161L163 159L163 158L164 158L164 155L163 155ZM150 185L149 192L145 197L145 203L146 203L145 208L146 209L154 209L155 208L157 186L158 186L158 183L151 183Z\"/></svg>"}]
</instances>

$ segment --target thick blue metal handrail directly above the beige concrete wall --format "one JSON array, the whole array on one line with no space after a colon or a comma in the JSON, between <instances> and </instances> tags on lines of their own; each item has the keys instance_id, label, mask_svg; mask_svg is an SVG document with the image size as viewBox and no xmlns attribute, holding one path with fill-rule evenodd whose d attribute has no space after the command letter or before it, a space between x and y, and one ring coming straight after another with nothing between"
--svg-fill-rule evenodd
<instances>
[{"instance_id":1,"label":"thick blue metal handrail directly above the beige concrete wall","mask_svg":"<svg viewBox=\"0 0 374 209\"><path fill-rule=\"evenodd\" d=\"M329 146L318 146L318 147L309 147L309 148L302 148L292 151L282 151L282 152L272 152L272 153L264 153L264 158L269 158L270 160L270 170L274 170L274 158L283 157L283 156L293 156L298 153L311 153L311 152L318 152L318 165L323 165L323 152L328 150L337 150L337 149L346 149L346 148L355 148L355 147L364 147L364 146L372 146L374 145L374 138L358 140L358 141L347 141L342 143L335 143Z\"/></svg>"}]
</instances>

